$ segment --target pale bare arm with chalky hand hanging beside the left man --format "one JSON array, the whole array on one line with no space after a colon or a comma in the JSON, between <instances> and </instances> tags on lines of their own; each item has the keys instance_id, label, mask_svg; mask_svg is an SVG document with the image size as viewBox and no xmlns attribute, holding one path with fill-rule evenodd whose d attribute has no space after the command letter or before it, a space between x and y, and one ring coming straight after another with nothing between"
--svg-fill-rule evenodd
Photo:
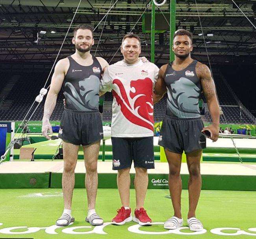
<instances>
[{"instance_id":1,"label":"pale bare arm with chalky hand hanging beside the left man","mask_svg":"<svg viewBox=\"0 0 256 239\"><path fill-rule=\"evenodd\" d=\"M52 134L52 126L50 124L50 117L56 105L56 100L61 89L61 85L65 78L65 66L67 64L66 59L60 60L54 69L54 74L52 75L52 81L50 85L50 90L47 94L45 100L45 109L43 116L43 125L42 125L42 133L45 138L50 140L48 136L48 131Z\"/></svg>"}]
</instances>

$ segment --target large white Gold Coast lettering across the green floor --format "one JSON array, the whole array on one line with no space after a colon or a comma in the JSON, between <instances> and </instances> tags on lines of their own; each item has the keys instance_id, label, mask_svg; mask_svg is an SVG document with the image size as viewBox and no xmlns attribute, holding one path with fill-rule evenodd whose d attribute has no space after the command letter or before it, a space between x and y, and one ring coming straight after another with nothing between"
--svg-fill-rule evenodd
<instances>
[{"instance_id":1,"label":"large white Gold Coast lettering across the green floor","mask_svg":"<svg viewBox=\"0 0 256 239\"><path fill-rule=\"evenodd\" d=\"M153 222L153 225L156 224L163 224L164 222ZM69 224L69 226L71 226L73 224L73 222L71 222ZM52 226L46 226L46 227L28 227L28 226L12 226L12 227L7 227L7 228L0 228L0 234L5 234L5 235L19 235L19 234L30 234L30 233L35 233L35 232L39 232L40 230L44 230L46 234L59 234L58 232L56 232L56 229L58 228L63 228L61 230L61 233L65 233L65 234L75 234L75 235L82 235L82 234L91 234L91 233L95 233L95 234L102 234L102 235L108 235L108 233L106 233L104 231L104 228L106 226L108 226L109 224L112 224L111 222L104 222L103 225L101 226L71 226L71 227L63 227L63 226L56 226L56 225L52 225ZM0 223L0 226L2 226L3 223ZM85 229L84 232L77 232L75 230L77 229ZM88 231L88 229L90 229ZM121 227L120 227L121 228ZM200 232L182 232L182 230L184 229L189 229L188 227L180 227L174 230L165 230L163 229L162 232L154 232L154 231L147 231L147 230L140 230L141 226L139 224L135 224L133 226L129 226L127 229L126 228L122 228L123 230L128 230L131 233L137 233L137 234L150 234L150 235L161 235L161 234L176 234L176 235L183 235L183 236L195 236L197 235L196 238L205 238L205 233L207 233L208 231L206 229L203 229ZM145 228L145 227L144 227ZM24 231L22 232L17 232L17 230L23 229ZM16 231L15 231L16 230ZM227 230L229 232L227 232ZM230 230L234 231L234 232L230 232ZM249 232L246 232L249 231ZM247 230L241 230L240 228L230 228L230 227L222 227L222 228L213 228L210 230L211 234L215 234L215 235L221 235L221 236L233 236L232 238L235 238L234 236L239 236L239 235L250 235L250 236L256 236L256 228L248 228ZM241 238L241 237L239 237Z\"/></svg>"}]
</instances>

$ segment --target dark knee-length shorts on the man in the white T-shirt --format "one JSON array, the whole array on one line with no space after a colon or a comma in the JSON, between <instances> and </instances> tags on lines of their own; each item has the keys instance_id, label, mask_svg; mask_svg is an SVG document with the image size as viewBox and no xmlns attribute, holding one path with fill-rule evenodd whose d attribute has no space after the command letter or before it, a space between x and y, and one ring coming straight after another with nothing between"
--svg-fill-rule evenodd
<instances>
[{"instance_id":1,"label":"dark knee-length shorts on the man in the white T-shirt","mask_svg":"<svg viewBox=\"0 0 256 239\"><path fill-rule=\"evenodd\" d=\"M144 138L111 137L113 151L113 170L131 167L154 169L153 136Z\"/></svg>"}]
</instances>

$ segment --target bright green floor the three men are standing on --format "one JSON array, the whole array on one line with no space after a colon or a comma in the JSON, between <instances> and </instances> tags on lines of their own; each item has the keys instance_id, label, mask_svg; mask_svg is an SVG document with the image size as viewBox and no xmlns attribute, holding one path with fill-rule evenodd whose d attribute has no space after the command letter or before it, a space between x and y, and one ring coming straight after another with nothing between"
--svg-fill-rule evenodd
<instances>
[{"instance_id":1,"label":"bright green floor the three men are standing on","mask_svg":"<svg viewBox=\"0 0 256 239\"><path fill-rule=\"evenodd\" d=\"M55 224L63 210L61 192L61 189L1 189L0 238L249 239L256 236L256 191L203 190L197 210L197 217L203 222L204 228L207 230L203 234L196 234L188 229L180 231L163 229L163 224L160 223L173 215L171 199L165 198L169 191L165 189L149 189L145 201L145 208L153 222L160 223L139 228L134 222L128 222L122 226L108 224L120 206L119 194L117 189L98 189L96 210L103 217L104 222L108 224L103 229L103 226L101 228L91 227L89 223L84 221L86 210L85 189L74 189L72 216L75 217L76 221L65 230L63 230L64 228L54 230L52 225ZM134 189L131 189L130 198L133 211L135 206ZM185 222L184 227L187 226L187 210L188 191L183 190L182 215ZM13 230L10 228L19 226L22 228L12 228ZM50 226L52 227L49 228ZM81 226L82 228L74 228ZM48 228L46 229L46 227ZM221 228L224 229L221 230ZM249 228L250 230L248 230ZM28 230L33 232L26 233ZM218 235L220 233L223 235Z\"/></svg>"}]
</instances>

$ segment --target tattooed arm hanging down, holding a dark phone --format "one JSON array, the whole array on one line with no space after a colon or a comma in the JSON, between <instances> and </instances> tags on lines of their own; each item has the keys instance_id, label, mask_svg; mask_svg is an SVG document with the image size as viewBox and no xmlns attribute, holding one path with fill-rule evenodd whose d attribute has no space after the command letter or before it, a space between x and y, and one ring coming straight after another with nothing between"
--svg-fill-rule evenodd
<instances>
[{"instance_id":1,"label":"tattooed arm hanging down, holding a dark phone","mask_svg":"<svg viewBox=\"0 0 256 239\"><path fill-rule=\"evenodd\" d=\"M208 130L211 132L213 142L217 141L219 135L219 103L216 96L215 84L211 77L211 72L208 66L202 63L197 63L197 75L201 81L202 90L206 97L207 105L212 118L212 125L205 127L202 131Z\"/></svg>"}]
</instances>

